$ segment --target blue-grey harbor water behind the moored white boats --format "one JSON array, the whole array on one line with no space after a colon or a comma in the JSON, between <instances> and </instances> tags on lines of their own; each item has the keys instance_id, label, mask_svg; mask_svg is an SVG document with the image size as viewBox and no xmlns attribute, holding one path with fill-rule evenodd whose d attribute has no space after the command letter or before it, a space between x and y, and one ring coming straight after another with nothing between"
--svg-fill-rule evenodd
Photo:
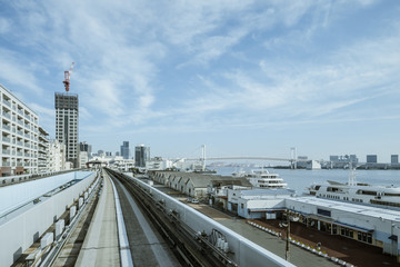
<instances>
[{"instance_id":1,"label":"blue-grey harbor water behind the moored white boats","mask_svg":"<svg viewBox=\"0 0 400 267\"><path fill-rule=\"evenodd\" d=\"M249 171L257 168L214 167L217 175L231 176L238 171ZM306 192L306 188L313 182L320 184L328 180L348 182L350 170L348 169L273 169L267 168L270 174L278 174L290 189L297 195ZM400 170L356 170L356 181L370 185L400 187Z\"/></svg>"}]
</instances>

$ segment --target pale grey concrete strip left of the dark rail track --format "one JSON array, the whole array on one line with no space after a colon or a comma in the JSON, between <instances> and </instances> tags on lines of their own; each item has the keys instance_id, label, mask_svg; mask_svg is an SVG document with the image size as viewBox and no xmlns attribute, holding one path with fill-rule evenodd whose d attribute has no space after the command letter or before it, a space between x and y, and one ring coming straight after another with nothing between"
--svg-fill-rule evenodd
<instances>
[{"instance_id":1,"label":"pale grey concrete strip left of the dark rail track","mask_svg":"<svg viewBox=\"0 0 400 267\"><path fill-rule=\"evenodd\" d=\"M114 194L108 177L102 190L76 266L120 266Z\"/></svg>"}]
</instances>

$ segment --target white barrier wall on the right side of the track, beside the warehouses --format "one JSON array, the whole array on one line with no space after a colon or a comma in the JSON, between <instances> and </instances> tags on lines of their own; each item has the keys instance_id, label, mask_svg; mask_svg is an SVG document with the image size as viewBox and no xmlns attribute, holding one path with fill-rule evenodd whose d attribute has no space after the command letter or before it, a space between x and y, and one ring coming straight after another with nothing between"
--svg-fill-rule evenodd
<instances>
[{"instance_id":1,"label":"white barrier wall on the right side of the track, beside the warehouses","mask_svg":"<svg viewBox=\"0 0 400 267\"><path fill-rule=\"evenodd\" d=\"M156 201L163 200L166 204L166 210L177 211L179 214L180 220L190 226L190 228L194 231L204 231L210 235L212 229L218 229L220 233L222 233L227 237L229 249L234 253L233 260L239 264L239 266L294 266L279 256L270 253L269 250L260 247L259 245L250 241L243 236L238 235L231 229L218 224L203 214L152 188L148 184L138 179L131 180L142 188L151 190L152 197Z\"/></svg>"}]
</instances>

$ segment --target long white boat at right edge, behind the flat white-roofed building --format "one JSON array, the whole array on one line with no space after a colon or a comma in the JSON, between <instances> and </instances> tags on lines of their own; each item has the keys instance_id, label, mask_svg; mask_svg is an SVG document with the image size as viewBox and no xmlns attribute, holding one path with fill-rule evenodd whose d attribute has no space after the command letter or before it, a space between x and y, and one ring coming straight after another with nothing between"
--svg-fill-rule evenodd
<instances>
[{"instance_id":1,"label":"long white boat at right edge, behind the flat white-roofed building","mask_svg":"<svg viewBox=\"0 0 400 267\"><path fill-rule=\"evenodd\" d=\"M319 198L400 207L400 187L356 182L353 170L349 176L349 181L346 184L328 180L327 184L313 184L307 189L311 196Z\"/></svg>"}]
</instances>

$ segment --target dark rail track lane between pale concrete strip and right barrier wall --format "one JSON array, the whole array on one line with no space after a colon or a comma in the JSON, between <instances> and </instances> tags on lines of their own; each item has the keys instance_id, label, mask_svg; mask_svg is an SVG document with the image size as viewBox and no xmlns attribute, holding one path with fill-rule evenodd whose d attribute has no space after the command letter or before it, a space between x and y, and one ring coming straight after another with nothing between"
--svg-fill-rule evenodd
<instances>
[{"instance_id":1,"label":"dark rail track lane between pale concrete strip and right barrier wall","mask_svg":"<svg viewBox=\"0 0 400 267\"><path fill-rule=\"evenodd\" d=\"M120 196L134 266L177 266L178 261L182 266L229 265L223 257L210 251L204 241L193 238L197 234L190 227L171 218L161 204L130 178L114 170L106 171L114 180Z\"/></svg>"}]
</instances>

